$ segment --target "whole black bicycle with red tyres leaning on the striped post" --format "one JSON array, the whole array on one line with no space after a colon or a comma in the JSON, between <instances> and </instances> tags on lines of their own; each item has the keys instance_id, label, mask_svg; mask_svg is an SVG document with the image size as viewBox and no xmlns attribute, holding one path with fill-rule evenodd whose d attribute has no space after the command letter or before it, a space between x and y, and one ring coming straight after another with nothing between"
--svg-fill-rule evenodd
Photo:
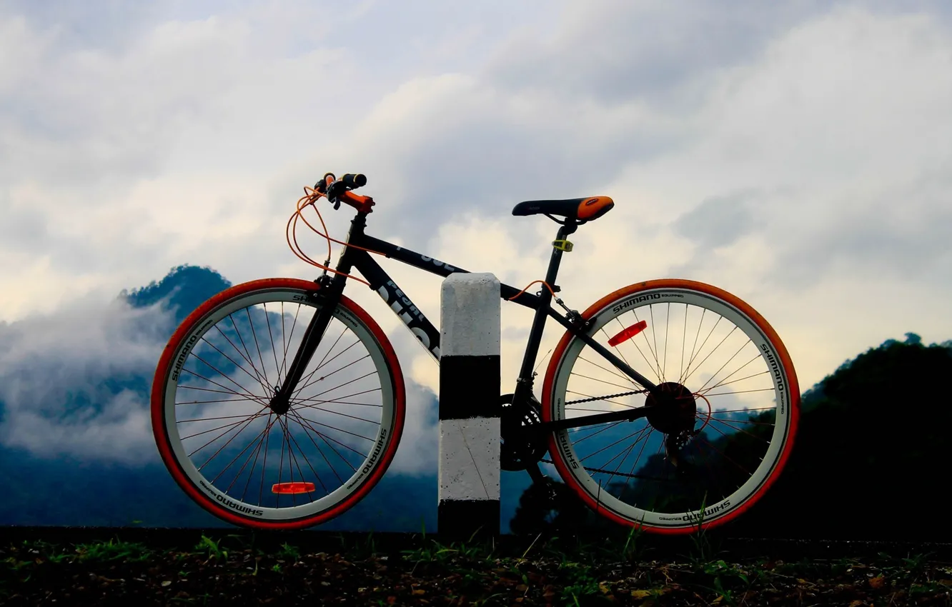
<instances>
[{"instance_id":1,"label":"whole black bicycle with red tyres leaning on the striped post","mask_svg":"<svg viewBox=\"0 0 952 607\"><path fill-rule=\"evenodd\" d=\"M159 453L188 496L220 519L263 529L326 522L363 499L393 460L406 417L403 374L386 334L344 295L348 280L376 291L439 362L440 332L370 254L443 277L466 270L367 235L375 202L352 191L366 183L327 173L305 187L288 220L288 245L323 268L318 279L229 287L188 315L156 367ZM356 209L346 241L330 238L323 218L325 233L304 218L308 206L320 218L321 198ZM584 312L569 308L556 295L567 237L613 206L596 196L513 208L559 228L545 279L532 283L540 290L501 286L502 299L535 310L518 381L498 403L501 466L539 482L539 464L552 464L589 508L622 525L679 534L722 524L760 499L789 457L800 408L793 363L760 314L709 284L630 284ZM324 264L297 245L299 219L327 238ZM333 267L331 242L344 245ZM533 365L548 319L565 334L540 401ZM210 417L192 419L199 406ZM240 436L244 447L232 444ZM215 450L215 441L224 444Z\"/></svg>"}]
</instances>

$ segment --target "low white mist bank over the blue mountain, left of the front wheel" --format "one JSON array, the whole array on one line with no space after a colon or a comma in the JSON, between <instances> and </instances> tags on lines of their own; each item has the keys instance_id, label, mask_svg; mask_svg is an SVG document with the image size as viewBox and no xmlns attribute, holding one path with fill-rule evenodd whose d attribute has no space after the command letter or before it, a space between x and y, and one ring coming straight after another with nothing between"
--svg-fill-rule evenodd
<instances>
[{"instance_id":1,"label":"low white mist bank over the blue mountain, left of the front wheel","mask_svg":"<svg viewBox=\"0 0 952 607\"><path fill-rule=\"evenodd\" d=\"M153 460L148 385L169 327L156 307L91 298L0 323L0 441L45 458Z\"/></svg>"}]
</instances>

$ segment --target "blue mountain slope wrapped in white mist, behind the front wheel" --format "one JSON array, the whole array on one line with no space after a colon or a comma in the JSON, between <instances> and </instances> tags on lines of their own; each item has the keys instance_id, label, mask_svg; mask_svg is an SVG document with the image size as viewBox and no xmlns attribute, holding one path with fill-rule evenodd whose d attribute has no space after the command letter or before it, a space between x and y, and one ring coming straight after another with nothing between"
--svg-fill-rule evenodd
<instances>
[{"instance_id":1,"label":"blue mountain slope wrapped in white mist, behind the front wheel","mask_svg":"<svg viewBox=\"0 0 952 607\"><path fill-rule=\"evenodd\" d=\"M0 524L225 524L188 499L159 460L149 389L175 327L228 286L218 272L185 264L106 306L0 325L0 343L20 353L0 357ZM426 410L435 415L435 406ZM434 530L436 455L432 472L391 469L366 499L318 528ZM525 473L504 475L506 529L527 483Z\"/></svg>"}]
</instances>

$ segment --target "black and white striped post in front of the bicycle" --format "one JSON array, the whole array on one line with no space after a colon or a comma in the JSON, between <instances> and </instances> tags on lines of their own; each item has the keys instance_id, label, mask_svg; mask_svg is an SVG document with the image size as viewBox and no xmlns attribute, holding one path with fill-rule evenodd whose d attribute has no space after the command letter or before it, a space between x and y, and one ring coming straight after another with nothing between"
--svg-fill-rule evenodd
<instances>
[{"instance_id":1,"label":"black and white striped post in front of the bicycle","mask_svg":"<svg viewBox=\"0 0 952 607\"><path fill-rule=\"evenodd\" d=\"M441 538L499 536L500 290L492 274L456 273L440 305Z\"/></svg>"}]
</instances>

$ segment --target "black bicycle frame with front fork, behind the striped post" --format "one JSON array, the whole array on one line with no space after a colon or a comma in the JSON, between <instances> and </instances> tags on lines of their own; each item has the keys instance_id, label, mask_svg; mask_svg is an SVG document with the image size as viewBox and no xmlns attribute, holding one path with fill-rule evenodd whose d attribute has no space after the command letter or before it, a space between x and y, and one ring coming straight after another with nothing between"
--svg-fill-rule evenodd
<instances>
[{"instance_id":1,"label":"black bicycle frame with front fork, behind the striped post","mask_svg":"<svg viewBox=\"0 0 952 607\"><path fill-rule=\"evenodd\" d=\"M387 243L387 241L369 236L364 233L366 226L367 213L357 213L357 216L350 222L347 244L357 245L383 253L387 258L412 265L413 267L438 276L446 277L458 272L468 273L467 270L461 267L446 264L432 257L417 253L416 251L411 251L402 246L393 245ZM564 241L566 236L575 232L577 226L575 223L566 221L564 225L559 227L557 240ZM562 261L562 253L562 249L553 246L552 256L548 263L548 270L545 272L545 283L549 284L555 291L559 290L559 287L555 284L555 280L559 272L559 264ZM393 282L387 275L387 272L384 271L384 268L382 268L380 264L377 264L367 251L346 246L335 269L343 274L349 274L354 268L367 279L370 288L383 298L387 305L390 306L390 309L407 324L409 330L424 345L433 358L439 362L440 331L433 323L430 323L426 319L423 312L410 301L407 294ZM337 274L333 278L327 278L327 276L325 276L322 280L317 281L319 284L322 284L323 288L317 289L314 297L320 301L323 306L308 324L302 345L295 355L294 361L291 362L291 365L288 367L285 385L280 386L280 390L278 390L277 395L272 401L272 408L277 407L275 408L276 412L287 410L285 407L288 406L289 396L294 386L301 379L307 362L309 362L310 357L317 349L324 335L324 331L327 329L327 324L330 322L333 310L341 294L344 292L346 281L347 277L342 274ZM519 372L519 379L516 382L513 401L519 401L521 399L527 400L531 396L534 376L532 367L539 353L539 345L542 343L543 330L545 329L547 317L551 317L557 323L562 324L565 329L591 346L592 349L605 357L605 360L611 362L620 371L625 373L626 376L641 384L646 390L652 390L656 387L654 383L647 380L643 375L612 354L612 352L601 343L597 343L590 338L585 333L587 323L580 316L574 314L564 315L553 309L551 306L552 293L550 293L548 289L543 288L539 294L528 292L520 293L520 290L521 289L517 289L508 284L500 285L500 297L502 297L502 299L535 310L532 328L529 331L529 339L526 344L526 352L523 355L522 368ZM282 409L282 411L278 411L279 409ZM573 418L572 420L547 421L538 424L538 427L540 431L552 431L595 423L605 423L607 421L631 421L645 417L649 409L650 407L648 406L642 406L627 411L590 415Z\"/></svg>"}]
</instances>

